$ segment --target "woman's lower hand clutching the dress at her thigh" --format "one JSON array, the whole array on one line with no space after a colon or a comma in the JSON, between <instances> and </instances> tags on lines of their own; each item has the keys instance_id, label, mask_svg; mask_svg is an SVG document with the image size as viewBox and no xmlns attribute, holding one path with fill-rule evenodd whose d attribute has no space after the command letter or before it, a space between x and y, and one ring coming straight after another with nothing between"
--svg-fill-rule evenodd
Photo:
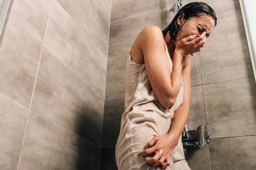
<instances>
[{"instance_id":1,"label":"woman's lower hand clutching the dress at her thigh","mask_svg":"<svg viewBox=\"0 0 256 170\"><path fill-rule=\"evenodd\" d=\"M162 167L168 167L170 165L170 157L173 149L178 144L179 137L176 137L172 133L167 135L154 136L151 139L145 150L140 152L141 156L145 156L145 161L151 165ZM153 157L149 157L149 154L154 154Z\"/></svg>"}]
</instances>

